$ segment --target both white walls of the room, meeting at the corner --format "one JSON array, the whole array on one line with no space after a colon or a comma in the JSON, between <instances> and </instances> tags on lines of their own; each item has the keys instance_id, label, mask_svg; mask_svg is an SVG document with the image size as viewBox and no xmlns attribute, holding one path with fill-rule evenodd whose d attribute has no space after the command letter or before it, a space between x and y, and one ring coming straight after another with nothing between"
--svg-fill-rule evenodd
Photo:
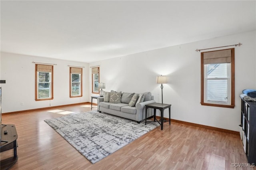
<instances>
[{"instance_id":1,"label":"both white walls of the room, meeting at the corner","mask_svg":"<svg viewBox=\"0 0 256 170\"><path fill-rule=\"evenodd\" d=\"M235 108L200 105L200 52L195 49L242 43L235 47ZM221 48L220 48L221 49ZM223 49L223 48L222 48ZM106 83L105 91L142 93L151 91L161 102L157 75L167 75L164 84L164 103L172 104L172 119L238 131L240 124L240 98L243 89L256 89L256 32L245 32L200 42L187 43L116 57L94 63L81 63L44 57L2 53L0 77L2 86L2 112L22 111L49 106L90 102L91 69L100 65L100 81ZM54 99L35 101L35 65L55 63ZM84 66L83 97L69 98L69 67ZM24 102L24 105L21 105ZM94 102L95 103L95 102ZM159 113L158 113L159 115ZM164 117L168 117L167 110Z\"/></svg>"}]
</instances>

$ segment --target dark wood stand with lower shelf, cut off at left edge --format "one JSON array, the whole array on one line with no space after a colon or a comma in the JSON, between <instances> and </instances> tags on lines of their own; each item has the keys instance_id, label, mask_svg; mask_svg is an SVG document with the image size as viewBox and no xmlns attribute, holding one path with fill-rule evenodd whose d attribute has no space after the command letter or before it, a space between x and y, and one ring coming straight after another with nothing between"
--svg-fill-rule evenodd
<instances>
[{"instance_id":1,"label":"dark wood stand with lower shelf, cut off at left edge","mask_svg":"<svg viewBox=\"0 0 256 170\"><path fill-rule=\"evenodd\" d=\"M2 134L1 134L1 146L0 152L4 152L9 149L13 149L13 157L7 158L5 160L1 160L1 170L6 170L14 165L18 160L17 155L17 138L18 134L15 128L15 125L1 125L2 126ZM8 133L4 134L4 130L7 130Z\"/></svg>"}]
</instances>

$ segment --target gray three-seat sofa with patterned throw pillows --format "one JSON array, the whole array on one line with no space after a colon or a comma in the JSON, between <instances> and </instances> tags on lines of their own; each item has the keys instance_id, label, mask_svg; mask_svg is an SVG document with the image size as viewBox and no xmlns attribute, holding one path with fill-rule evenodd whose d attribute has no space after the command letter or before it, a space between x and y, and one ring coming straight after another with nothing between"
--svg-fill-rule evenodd
<instances>
[{"instance_id":1,"label":"gray three-seat sofa with patterned throw pillows","mask_svg":"<svg viewBox=\"0 0 256 170\"><path fill-rule=\"evenodd\" d=\"M145 119L145 105L155 103L154 96L146 93L104 92L104 97L97 98L98 111L131 119L140 123ZM153 109L148 109L147 117L154 115Z\"/></svg>"}]
</instances>

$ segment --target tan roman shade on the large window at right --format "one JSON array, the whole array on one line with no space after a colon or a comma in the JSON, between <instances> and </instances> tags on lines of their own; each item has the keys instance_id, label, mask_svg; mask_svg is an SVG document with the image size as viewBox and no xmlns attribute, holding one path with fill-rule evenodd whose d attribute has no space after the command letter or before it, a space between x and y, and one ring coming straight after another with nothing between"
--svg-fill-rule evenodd
<instances>
[{"instance_id":1,"label":"tan roman shade on the large window at right","mask_svg":"<svg viewBox=\"0 0 256 170\"><path fill-rule=\"evenodd\" d=\"M204 52L204 64L231 63L231 49Z\"/></svg>"}]
</instances>

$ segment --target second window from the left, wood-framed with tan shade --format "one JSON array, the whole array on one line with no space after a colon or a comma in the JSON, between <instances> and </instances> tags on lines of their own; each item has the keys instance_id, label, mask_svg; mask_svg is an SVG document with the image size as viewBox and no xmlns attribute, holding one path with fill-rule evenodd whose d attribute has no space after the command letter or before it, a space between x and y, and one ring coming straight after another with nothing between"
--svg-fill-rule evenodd
<instances>
[{"instance_id":1,"label":"second window from the left, wood-framed with tan shade","mask_svg":"<svg viewBox=\"0 0 256 170\"><path fill-rule=\"evenodd\" d=\"M82 97L82 68L70 67L70 97Z\"/></svg>"}]
</instances>

